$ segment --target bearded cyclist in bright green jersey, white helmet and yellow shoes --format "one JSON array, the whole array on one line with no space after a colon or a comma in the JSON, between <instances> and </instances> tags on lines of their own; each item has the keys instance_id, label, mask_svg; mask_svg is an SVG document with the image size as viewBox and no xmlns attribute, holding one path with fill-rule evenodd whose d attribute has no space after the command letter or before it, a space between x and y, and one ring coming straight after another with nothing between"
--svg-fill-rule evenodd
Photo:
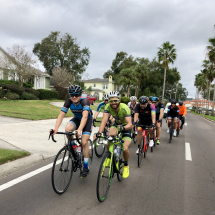
<instances>
[{"instance_id":1,"label":"bearded cyclist in bright green jersey, white helmet and yellow shoes","mask_svg":"<svg viewBox=\"0 0 215 215\"><path fill-rule=\"evenodd\" d=\"M122 139L124 140L124 169L123 169L123 178L127 178L129 176L129 166L128 160L130 152L128 150L131 144L131 112L128 106L124 103L120 103L121 95L117 91L111 91L108 94L109 104L105 106L103 119L101 125L99 127L99 132L97 133L97 137L101 136L102 131L104 130L105 124L108 121L109 114L115 118L114 124L111 126L109 130L108 136L113 135L117 136L118 131L122 132ZM109 161L110 162L110 159Z\"/></svg>"}]
</instances>

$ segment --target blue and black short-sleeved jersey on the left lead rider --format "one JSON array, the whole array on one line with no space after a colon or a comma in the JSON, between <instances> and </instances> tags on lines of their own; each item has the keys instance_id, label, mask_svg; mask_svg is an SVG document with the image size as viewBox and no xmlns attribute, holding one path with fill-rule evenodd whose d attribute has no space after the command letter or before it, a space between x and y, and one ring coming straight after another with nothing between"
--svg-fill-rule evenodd
<instances>
[{"instance_id":1,"label":"blue and black short-sleeved jersey on the left lead rider","mask_svg":"<svg viewBox=\"0 0 215 215\"><path fill-rule=\"evenodd\" d=\"M88 118L92 117L93 113L92 110L90 109L90 102L88 99L86 98L81 98L80 102L78 103L78 105L75 105L72 100L70 98L68 98L61 111L63 111L64 113L67 113L69 108L71 109L72 113L74 114L75 118L77 118L78 120L82 119L82 112L87 110L89 112L88 114Z\"/></svg>"}]
</instances>

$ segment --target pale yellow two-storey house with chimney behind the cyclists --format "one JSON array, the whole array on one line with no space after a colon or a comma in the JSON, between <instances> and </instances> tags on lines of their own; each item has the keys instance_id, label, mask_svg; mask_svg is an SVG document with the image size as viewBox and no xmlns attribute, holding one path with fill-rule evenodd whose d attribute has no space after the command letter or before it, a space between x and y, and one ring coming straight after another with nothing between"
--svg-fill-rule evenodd
<instances>
[{"instance_id":1,"label":"pale yellow two-storey house with chimney behind the cyclists","mask_svg":"<svg viewBox=\"0 0 215 215\"><path fill-rule=\"evenodd\" d=\"M122 92L122 85L116 85L112 80L112 76L109 78L93 78L89 80L83 80L84 86L86 88L92 87L92 95L96 97L97 100L102 100L103 95L109 93L110 91L119 91L122 96L127 96L126 92Z\"/></svg>"}]
</instances>

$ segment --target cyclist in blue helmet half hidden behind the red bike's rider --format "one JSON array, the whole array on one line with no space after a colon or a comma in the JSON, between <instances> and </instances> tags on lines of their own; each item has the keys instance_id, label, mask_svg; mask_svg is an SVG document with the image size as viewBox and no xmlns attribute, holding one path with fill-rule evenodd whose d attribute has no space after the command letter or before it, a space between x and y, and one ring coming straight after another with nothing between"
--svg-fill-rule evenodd
<instances>
[{"instance_id":1,"label":"cyclist in blue helmet half hidden behind the red bike's rider","mask_svg":"<svg viewBox=\"0 0 215 215\"><path fill-rule=\"evenodd\" d=\"M157 144L160 145L160 133L161 133L161 125L162 125L162 119L163 119L164 105L163 103L159 103L158 97L153 97L152 103L155 105L155 109L156 109Z\"/></svg>"}]
</instances>

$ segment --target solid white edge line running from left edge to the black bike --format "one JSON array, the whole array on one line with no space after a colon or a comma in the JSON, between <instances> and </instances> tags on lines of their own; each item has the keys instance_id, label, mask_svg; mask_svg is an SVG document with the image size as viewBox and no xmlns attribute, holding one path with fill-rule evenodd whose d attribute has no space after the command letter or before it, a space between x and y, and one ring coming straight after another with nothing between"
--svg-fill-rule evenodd
<instances>
[{"instance_id":1,"label":"solid white edge line running from left edge to the black bike","mask_svg":"<svg viewBox=\"0 0 215 215\"><path fill-rule=\"evenodd\" d=\"M68 159L68 156L65 157L65 160L67 160L67 159ZM62 159L58 160L58 161L57 161L57 164L59 164L61 161L62 161ZM25 174L25 175L23 175L23 176L21 176L21 177L19 177L19 178L16 178L16 179L14 179L14 180L12 180L12 181L9 181L9 182L7 182L7 183L5 183L5 184L2 184L2 185L0 186L0 192L1 192L2 190L5 190L5 189L9 188L9 187L12 187L12 186L15 185L15 184L20 183L20 182L22 182L22 181L24 181L24 180L26 180L26 179L28 179L28 178L31 178L32 176L37 175L37 174L39 174L39 173L41 173L41 172L43 172L43 171L45 171L45 170L47 170L47 169L50 169L52 166L53 166L53 163L50 163L50 164L48 164L48 165L46 165L46 166L44 166L44 167L41 167L41 168L36 169L36 170L34 170L34 171L32 171L32 172L29 172L29 173L27 173L27 174Z\"/></svg>"}]
</instances>

